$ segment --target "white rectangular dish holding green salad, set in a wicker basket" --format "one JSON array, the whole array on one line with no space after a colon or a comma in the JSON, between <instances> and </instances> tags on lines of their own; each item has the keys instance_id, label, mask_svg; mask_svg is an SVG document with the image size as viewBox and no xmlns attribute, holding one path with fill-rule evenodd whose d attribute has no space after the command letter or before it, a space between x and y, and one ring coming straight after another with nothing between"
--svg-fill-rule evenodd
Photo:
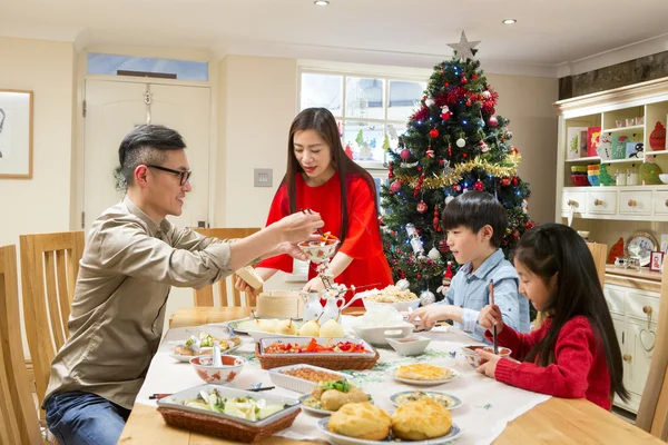
<instances>
[{"instance_id":1,"label":"white rectangular dish holding green salad, set in a wicker basket","mask_svg":"<svg viewBox=\"0 0 668 445\"><path fill-rule=\"evenodd\" d=\"M263 418L262 421L254 422L254 421L248 421L245 418L230 416L230 415L224 414L224 413L217 413L217 412L213 412L213 411L207 411L207 409L196 408L193 406L183 405L183 402L185 402L189 398L196 398L202 389L206 390L207 393L212 393L214 389L217 389L218 393L220 394L220 396L226 397L226 398L250 397L256 400L264 398L265 400L267 400L267 403L269 405L288 405L288 406L277 413L272 414L271 416ZM180 411L185 411L188 413L199 414L203 416L222 417L222 418L225 418L228 421L234 421L234 422L237 422L239 424L244 424L244 425L247 425L250 427L262 427L266 424L275 422L276 419L278 419L281 417L287 416L287 415L294 413L295 411L298 411L301 404L299 404L299 400L297 400L297 399L272 395L272 394L258 394L258 393L250 392L250 390L230 388L230 387L222 386L222 385L199 385L199 386L195 386L193 388L185 389L179 393L173 394L170 396L160 398L158 400L158 406L165 407L165 408L171 408L171 409L180 409Z\"/></svg>"}]
</instances>

